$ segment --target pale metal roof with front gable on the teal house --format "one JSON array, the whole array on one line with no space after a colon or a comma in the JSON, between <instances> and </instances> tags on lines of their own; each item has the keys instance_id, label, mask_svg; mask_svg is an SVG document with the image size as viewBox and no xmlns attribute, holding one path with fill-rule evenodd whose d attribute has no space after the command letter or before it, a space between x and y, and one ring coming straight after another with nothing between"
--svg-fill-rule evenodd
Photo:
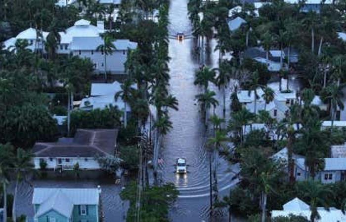
<instances>
[{"instance_id":1,"label":"pale metal roof with front gable on the teal house","mask_svg":"<svg viewBox=\"0 0 346 222\"><path fill-rule=\"evenodd\" d=\"M54 209L69 218L73 205L98 205L96 188L34 188L33 204L40 204L37 216Z\"/></svg>"}]
</instances>

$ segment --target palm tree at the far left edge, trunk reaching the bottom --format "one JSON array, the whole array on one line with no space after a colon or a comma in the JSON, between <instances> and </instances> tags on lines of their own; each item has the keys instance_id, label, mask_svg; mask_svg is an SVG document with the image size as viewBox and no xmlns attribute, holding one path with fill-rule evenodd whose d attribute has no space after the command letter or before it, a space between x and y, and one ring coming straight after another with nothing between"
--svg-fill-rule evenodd
<instances>
[{"instance_id":1,"label":"palm tree at the far left edge, trunk reaching the bottom","mask_svg":"<svg viewBox=\"0 0 346 222\"><path fill-rule=\"evenodd\" d=\"M7 221L7 184L9 171L13 161L13 147L10 144L0 145L0 183L2 185L3 197L3 221Z\"/></svg>"}]
</instances>

